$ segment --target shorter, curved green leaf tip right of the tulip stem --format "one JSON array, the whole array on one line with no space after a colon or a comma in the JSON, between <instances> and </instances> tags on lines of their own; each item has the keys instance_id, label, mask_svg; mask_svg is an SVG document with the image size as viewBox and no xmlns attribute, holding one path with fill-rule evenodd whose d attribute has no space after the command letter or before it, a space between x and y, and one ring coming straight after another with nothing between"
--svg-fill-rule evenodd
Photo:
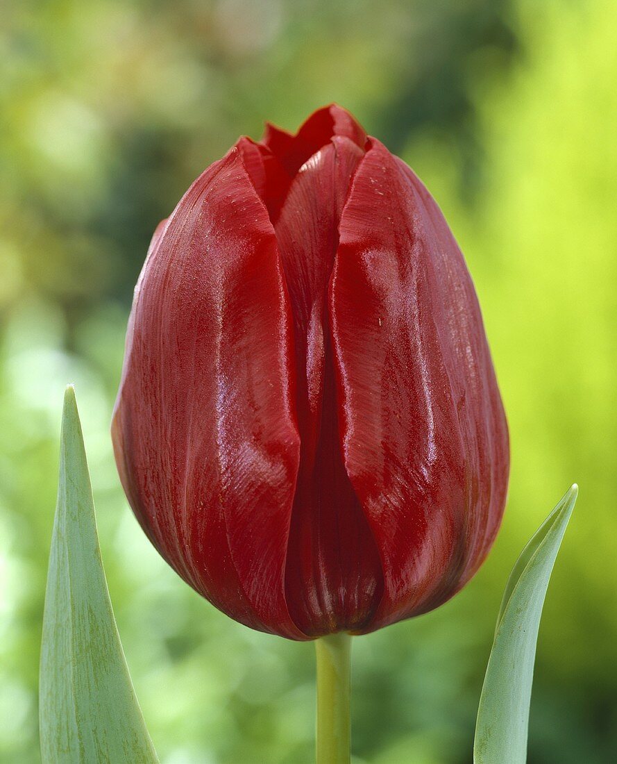
<instances>
[{"instance_id":1,"label":"shorter, curved green leaf tip right of the tulip stem","mask_svg":"<svg viewBox=\"0 0 617 764\"><path fill-rule=\"evenodd\" d=\"M480 697L475 764L524 764L527 759L529 702L542 607L577 494L575 484L512 568Z\"/></svg>"}]
</instances>

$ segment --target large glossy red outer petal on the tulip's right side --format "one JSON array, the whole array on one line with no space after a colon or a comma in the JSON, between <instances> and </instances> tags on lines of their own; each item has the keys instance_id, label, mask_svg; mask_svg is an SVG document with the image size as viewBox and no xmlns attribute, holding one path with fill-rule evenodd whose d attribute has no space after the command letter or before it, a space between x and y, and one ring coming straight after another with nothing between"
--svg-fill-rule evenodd
<instances>
[{"instance_id":1,"label":"large glossy red outer petal on the tulip's right side","mask_svg":"<svg viewBox=\"0 0 617 764\"><path fill-rule=\"evenodd\" d=\"M501 520L506 419L464 259L379 141L357 170L331 283L347 474L383 565L373 630L437 607Z\"/></svg>"}]
</instances>

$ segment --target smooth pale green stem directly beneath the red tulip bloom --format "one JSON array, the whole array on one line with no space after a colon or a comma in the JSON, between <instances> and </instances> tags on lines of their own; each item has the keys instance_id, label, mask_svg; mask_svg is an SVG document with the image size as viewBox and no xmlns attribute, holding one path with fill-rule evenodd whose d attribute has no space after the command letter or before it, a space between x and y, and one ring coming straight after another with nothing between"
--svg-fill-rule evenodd
<instances>
[{"instance_id":1,"label":"smooth pale green stem directly beneath the red tulip bloom","mask_svg":"<svg viewBox=\"0 0 617 764\"><path fill-rule=\"evenodd\" d=\"M317 764L349 764L351 637L315 640L317 651Z\"/></svg>"}]
</instances>

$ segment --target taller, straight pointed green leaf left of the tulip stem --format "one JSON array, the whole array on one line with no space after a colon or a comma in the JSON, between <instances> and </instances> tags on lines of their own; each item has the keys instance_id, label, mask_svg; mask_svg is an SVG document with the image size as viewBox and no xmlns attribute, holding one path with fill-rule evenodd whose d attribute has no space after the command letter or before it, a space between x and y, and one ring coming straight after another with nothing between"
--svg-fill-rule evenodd
<instances>
[{"instance_id":1,"label":"taller, straight pointed green leaf left of the tulip stem","mask_svg":"<svg viewBox=\"0 0 617 764\"><path fill-rule=\"evenodd\" d=\"M158 761L111 610L73 387L64 396L39 720L43 764Z\"/></svg>"}]
</instances>

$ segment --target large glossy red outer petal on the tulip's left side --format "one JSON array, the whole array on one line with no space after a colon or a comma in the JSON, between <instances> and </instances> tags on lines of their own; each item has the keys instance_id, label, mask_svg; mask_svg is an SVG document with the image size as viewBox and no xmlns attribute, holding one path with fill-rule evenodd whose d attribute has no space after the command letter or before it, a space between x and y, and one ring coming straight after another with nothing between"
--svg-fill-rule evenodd
<instances>
[{"instance_id":1,"label":"large glossy red outer petal on the tulip's left side","mask_svg":"<svg viewBox=\"0 0 617 764\"><path fill-rule=\"evenodd\" d=\"M241 623L302 639L284 591L299 465L291 322L274 231L234 148L155 234L115 451L176 571Z\"/></svg>"}]
</instances>

